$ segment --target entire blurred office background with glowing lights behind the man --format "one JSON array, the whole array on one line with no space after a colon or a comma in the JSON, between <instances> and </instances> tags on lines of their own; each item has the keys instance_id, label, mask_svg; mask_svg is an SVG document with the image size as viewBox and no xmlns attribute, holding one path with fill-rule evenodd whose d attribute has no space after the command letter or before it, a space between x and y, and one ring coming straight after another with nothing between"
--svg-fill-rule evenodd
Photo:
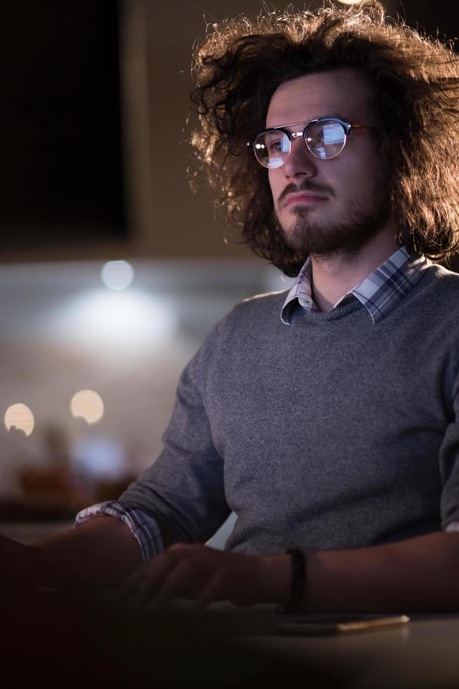
<instances>
[{"instance_id":1,"label":"entire blurred office background with glowing lights behind the man","mask_svg":"<svg viewBox=\"0 0 459 689\"><path fill-rule=\"evenodd\" d=\"M384 4L429 34L458 34L453 2ZM206 25L260 11L272 7L23 0L4 8L5 535L46 535L79 508L116 498L161 450L180 371L213 323L245 297L291 285L225 226L204 183L189 191L192 46Z\"/></svg>"}]
</instances>

